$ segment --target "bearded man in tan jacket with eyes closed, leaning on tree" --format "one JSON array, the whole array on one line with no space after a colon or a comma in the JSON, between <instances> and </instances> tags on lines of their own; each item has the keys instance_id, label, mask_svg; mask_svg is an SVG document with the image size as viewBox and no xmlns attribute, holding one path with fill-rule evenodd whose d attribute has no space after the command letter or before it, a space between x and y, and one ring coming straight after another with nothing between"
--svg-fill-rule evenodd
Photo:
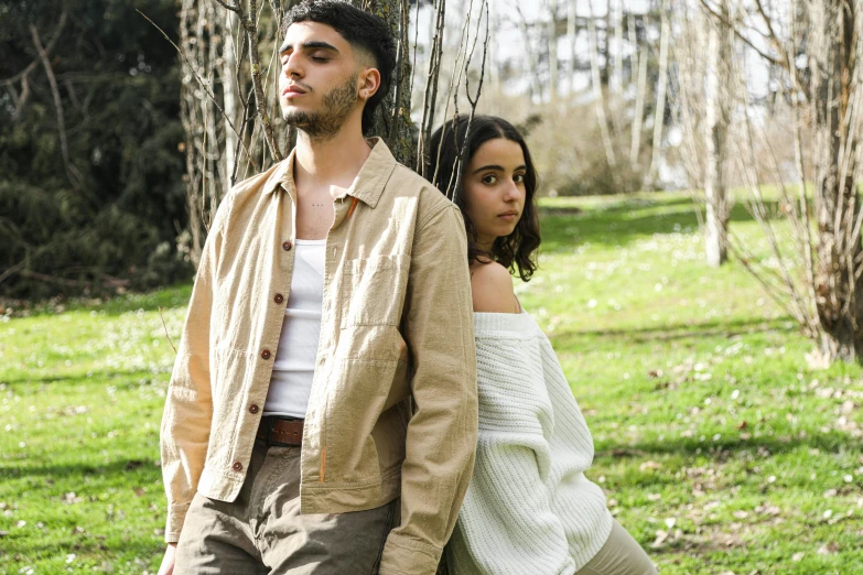
<instances>
[{"instance_id":1,"label":"bearded man in tan jacket with eyes closed, leaning on tree","mask_svg":"<svg viewBox=\"0 0 863 575\"><path fill-rule=\"evenodd\" d=\"M332 0L288 22L298 144L204 248L162 421L160 573L432 575L476 442L462 218L363 138L386 24Z\"/></svg>"}]
</instances>

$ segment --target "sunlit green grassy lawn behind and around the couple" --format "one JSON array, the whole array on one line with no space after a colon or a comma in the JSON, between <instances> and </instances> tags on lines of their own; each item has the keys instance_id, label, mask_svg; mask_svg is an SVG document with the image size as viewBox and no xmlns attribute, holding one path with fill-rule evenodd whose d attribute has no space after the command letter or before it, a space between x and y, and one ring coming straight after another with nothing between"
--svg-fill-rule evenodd
<instances>
[{"instance_id":1,"label":"sunlit green grassy lawn behind and around the couple","mask_svg":"<svg viewBox=\"0 0 863 575\"><path fill-rule=\"evenodd\" d=\"M863 372L811 345L682 194L555 198L517 285L664 574L863 573ZM738 207L734 232L766 256ZM188 286L0 323L0 573L154 573L159 422ZM163 319L158 307L163 310Z\"/></svg>"}]
</instances>

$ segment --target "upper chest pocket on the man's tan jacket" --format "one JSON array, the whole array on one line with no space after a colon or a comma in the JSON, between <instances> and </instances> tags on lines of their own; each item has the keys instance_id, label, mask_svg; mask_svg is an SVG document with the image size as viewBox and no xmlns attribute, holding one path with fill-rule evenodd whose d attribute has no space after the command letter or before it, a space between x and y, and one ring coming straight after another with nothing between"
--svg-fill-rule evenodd
<instances>
[{"instance_id":1,"label":"upper chest pocket on the man's tan jacket","mask_svg":"<svg viewBox=\"0 0 863 575\"><path fill-rule=\"evenodd\" d=\"M342 327L398 326L404 305L409 256L379 256L346 262L343 278L345 313Z\"/></svg>"}]
</instances>

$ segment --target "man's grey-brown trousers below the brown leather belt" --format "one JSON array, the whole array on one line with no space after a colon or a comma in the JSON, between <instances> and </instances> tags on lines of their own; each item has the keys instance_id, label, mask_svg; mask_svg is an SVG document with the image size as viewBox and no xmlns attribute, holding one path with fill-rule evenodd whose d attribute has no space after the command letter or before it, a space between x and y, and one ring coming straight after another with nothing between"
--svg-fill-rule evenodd
<instances>
[{"instance_id":1,"label":"man's grey-brown trousers below the brown leather belt","mask_svg":"<svg viewBox=\"0 0 863 575\"><path fill-rule=\"evenodd\" d=\"M368 511L300 514L300 447L256 440L234 502L197 493L176 547L177 575L375 575L399 499Z\"/></svg>"}]
</instances>

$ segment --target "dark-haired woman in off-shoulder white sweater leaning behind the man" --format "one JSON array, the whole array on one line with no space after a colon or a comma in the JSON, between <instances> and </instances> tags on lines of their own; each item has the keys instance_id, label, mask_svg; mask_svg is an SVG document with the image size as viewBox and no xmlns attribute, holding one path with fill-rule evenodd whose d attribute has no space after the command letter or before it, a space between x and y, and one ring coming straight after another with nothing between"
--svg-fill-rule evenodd
<instances>
[{"instance_id":1,"label":"dark-haired woman in off-shoulder white sweater leaning behind the man","mask_svg":"<svg viewBox=\"0 0 863 575\"><path fill-rule=\"evenodd\" d=\"M449 571L655 574L584 477L593 440L551 344L513 290L510 272L528 281L537 269L540 241L527 144L500 118L467 124L460 116L439 129L427 165L464 217L479 386L476 465L447 545Z\"/></svg>"}]
</instances>

